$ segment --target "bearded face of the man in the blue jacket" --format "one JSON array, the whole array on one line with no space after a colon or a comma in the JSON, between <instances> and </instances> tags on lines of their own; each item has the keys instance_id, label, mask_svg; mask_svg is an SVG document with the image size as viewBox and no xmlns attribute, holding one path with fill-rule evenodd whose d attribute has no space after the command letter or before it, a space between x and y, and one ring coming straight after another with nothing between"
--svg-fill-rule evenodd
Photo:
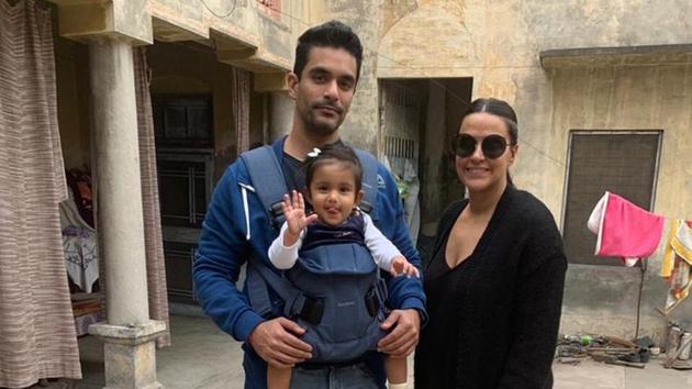
<instances>
[{"instance_id":1,"label":"bearded face of the man in the blue jacket","mask_svg":"<svg viewBox=\"0 0 692 389\"><path fill-rule=\"evenodd\" d=\"M356 91L356 58L344 48L312 47L303 73L290 74L289 95L308 133L331 135L344 122Z\"/></svg>"}]
</instances>

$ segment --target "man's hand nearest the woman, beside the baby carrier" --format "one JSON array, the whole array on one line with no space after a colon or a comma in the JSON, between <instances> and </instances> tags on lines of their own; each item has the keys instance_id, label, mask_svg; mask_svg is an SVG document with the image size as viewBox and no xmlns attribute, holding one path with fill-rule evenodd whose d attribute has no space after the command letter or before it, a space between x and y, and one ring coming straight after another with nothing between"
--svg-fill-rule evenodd
<instances>
[{"instance_id":1,"label":"man's hand nearest the woman, beside the baby carrier","mask_svg":"<svg viewBox=\"0 0 692 389\"><path fill-rule=\"evenodd\" d=\"M409 356L418 344L421 334L421 316L414 309L393 310L380 327L390 332L377 344L378 352L397 358Z\"/></svg>"}]
</instances>

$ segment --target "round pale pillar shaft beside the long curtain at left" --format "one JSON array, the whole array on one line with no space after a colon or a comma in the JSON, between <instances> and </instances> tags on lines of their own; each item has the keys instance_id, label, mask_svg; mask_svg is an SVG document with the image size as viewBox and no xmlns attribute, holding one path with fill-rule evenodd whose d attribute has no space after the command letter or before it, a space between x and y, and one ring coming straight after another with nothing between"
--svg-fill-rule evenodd
<instances>
[{"instance_id":1,"label":"round pale pillar shaft beside the long curtain at left","mask_svg":"<svg viewBox=\"0 0 692 389\"><path fill-rule=\"evenodd\" d=\"M149 305L132 46L92 42L89 67L108 322L141 324L149 318Z\"/></svg>"}]
</instances>

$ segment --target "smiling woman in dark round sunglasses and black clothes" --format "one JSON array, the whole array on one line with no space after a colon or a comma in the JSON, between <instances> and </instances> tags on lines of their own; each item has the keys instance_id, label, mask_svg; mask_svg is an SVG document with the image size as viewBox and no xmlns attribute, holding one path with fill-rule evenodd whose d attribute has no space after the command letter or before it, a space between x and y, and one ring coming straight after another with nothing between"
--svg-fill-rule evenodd
<instances>
[{"instance_id":1,"label":"smiling woman in dark round sunglasses and black clothes","mask_svg":"<svg viewBox=\"0 0 692 389\"><path fill-rule=\"evenodd\" d=\"M517 132L506 102L478 99L454 140L468 199L445 211L425 265L418 389L553 387L567 260L548 209L512 185Z\"/></svg>"}]
</instances>

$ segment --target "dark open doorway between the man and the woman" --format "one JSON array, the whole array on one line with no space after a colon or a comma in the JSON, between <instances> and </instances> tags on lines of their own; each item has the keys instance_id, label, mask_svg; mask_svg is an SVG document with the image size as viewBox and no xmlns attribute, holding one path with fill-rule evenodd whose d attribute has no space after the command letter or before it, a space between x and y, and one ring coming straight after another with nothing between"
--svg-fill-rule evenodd
<instances>
[{"instance_id":1,"label":"dark open doorway between the man and the woman","mask_svg":"<svg viewBox=\"0 0 692 389\"><path fill-rule=\"evenodd\" d=\"M471 101L472 85L472 78L379 80L381 157L403 181L404 191L413 186L406 178L415 176L417 191L404 197L415 196L417 201L406 198L404 203L412 237L423 255L445 208L464 196L449 141Z\"/></svg>"}]
</instances>

